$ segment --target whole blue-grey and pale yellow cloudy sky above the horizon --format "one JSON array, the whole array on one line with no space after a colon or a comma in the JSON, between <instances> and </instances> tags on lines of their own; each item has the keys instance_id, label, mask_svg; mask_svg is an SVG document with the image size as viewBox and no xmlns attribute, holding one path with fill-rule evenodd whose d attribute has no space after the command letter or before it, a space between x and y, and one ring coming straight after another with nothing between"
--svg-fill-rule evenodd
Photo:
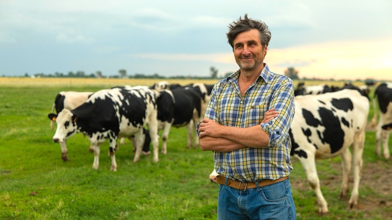
<instances>
[{"instance_id":1,"label":"whole blue-grey and pale yellow cloudy sky above the horizon","mask_svg":"<svg viewBox=\"0 0 392 220\"><path fill-rule=\"evenodd\" d=\"M392 81L390 0L0 0L0 76L101 71L223 77L228 25L248 14L272 38L264 62L299 77Z\"/></svg>"}]
</instances>

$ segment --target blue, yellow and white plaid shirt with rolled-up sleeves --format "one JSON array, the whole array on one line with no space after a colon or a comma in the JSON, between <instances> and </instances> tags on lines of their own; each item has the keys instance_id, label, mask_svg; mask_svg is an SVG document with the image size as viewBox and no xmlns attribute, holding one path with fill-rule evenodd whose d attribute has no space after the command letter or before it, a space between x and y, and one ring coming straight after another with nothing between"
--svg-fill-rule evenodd
<instances>
[{"instance_id":1,"label":"blue, yellow and white plaid shirt with rolled-up sleeves","mask_svg":"<svg viewBox=\"0 0 392 220\"><path fill-rule=\"evenodd\" d=\"M288 176L292 170L288 130L295 113L292 81L271 72L265 64L258 79L241 96L239 75L240 70L214 86L206 118L221 125L240 128L260 125L269 135L268 146L214 152L215 169L221 175L242 182ZM279 112L278 117L261 124L265 112L272 107Z\"/></svg>"}]
</instances>

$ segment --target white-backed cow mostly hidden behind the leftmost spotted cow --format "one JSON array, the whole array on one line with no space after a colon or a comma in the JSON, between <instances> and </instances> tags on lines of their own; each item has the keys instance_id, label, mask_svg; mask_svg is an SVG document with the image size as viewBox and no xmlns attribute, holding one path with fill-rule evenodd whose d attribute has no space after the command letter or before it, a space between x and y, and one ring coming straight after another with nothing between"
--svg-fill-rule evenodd
<instances>
[{"instance_id":1,"label":"white-backed cow mostly hidden behind the leftmost spotted cow","mask_svg":"<svg viewBox=\"0 0 392 220\"><path fill-rule=\"evenodd\" d=\"M59 114L62 109L66 108L69 110L74 109L81 105L88 99L92 92L77 92L77 91L61 91L56 95L52 106L52 113L56 109L56 114ZM53 131L54 122L50 120L50 127ZM68 149L66 141L60 143L61 147L61 158L63 161L68 161Z\"/></svg>"}]
</instances>

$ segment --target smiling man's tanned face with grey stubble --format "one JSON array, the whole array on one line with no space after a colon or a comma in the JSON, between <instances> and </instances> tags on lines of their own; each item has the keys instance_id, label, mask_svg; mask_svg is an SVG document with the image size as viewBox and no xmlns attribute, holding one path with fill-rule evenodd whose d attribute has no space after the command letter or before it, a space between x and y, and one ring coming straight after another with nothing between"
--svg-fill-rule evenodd
<instances>
[{"instance_id":1,"label":"smiling man's tanned face with grey stubble","mask_svg":"<svg viewBox=\"0 0 392 220\"><path fill-rule=\"evenodd\" d=\"M241 32L234 39L234 57L241 70L251 71L263 65L266 51L256 29Z\"/></svg>"}]
</instances>

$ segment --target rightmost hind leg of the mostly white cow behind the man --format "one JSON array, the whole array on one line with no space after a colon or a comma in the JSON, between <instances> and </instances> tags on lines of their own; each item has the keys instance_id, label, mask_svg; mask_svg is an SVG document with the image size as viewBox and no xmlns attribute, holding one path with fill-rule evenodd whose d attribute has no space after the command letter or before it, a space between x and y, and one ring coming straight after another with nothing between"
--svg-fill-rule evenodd
<instances>
[{"instance_id":1,"label":"rightmost hind leg of the mostly white cow behind the man","mask_svg":"<svg viewBox=\"0 0 392 220\"><path fill-rule=\"evenodd\" d=\"M362 154L363 146L365 144L365 131L355 135L354 143L352 144L352 154L353 154L353 175L354 175L354 185L351 192L350 200L348 204L350 208L358 204L359 197L359 182L361 180L361 170L362 170Z\"/></svg>"}]
</instances>

